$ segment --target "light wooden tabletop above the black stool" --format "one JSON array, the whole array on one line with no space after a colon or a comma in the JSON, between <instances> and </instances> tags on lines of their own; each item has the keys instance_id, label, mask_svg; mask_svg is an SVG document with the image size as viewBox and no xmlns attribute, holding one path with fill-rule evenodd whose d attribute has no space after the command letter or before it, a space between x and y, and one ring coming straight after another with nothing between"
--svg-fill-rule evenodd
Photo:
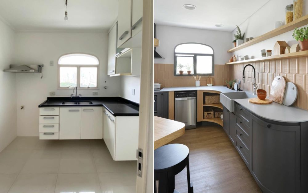
<instances>
[{"instance_id":1,"label":"light wooden tabletop above the black stool","mask_svg":"<svg viewBox=\"0 0 308 193\"><path fill-rule=\"evenodd\" d=\"M154 116L154 149L169 143L184 133L184 123Z\"/></svg>"}]
</instances>

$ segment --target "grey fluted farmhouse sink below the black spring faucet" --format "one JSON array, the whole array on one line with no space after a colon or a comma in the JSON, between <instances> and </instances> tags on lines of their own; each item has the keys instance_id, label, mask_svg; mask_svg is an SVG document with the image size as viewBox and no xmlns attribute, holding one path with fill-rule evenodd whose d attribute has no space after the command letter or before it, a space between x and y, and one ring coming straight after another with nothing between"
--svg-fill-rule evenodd
<instances>
[{"instance_id":1,"label":"grey fluted farmhouse sink below the black spring faucet","mask_svg":"<svg viewBox=\"0 0 308 193\"><path fill-rule=\"evenodd\" d=\"M250 99L255 97L257 96L245 91L220 93L220 103L229 111L234 112L235 99Z\"/></svg>"}]
</instances>

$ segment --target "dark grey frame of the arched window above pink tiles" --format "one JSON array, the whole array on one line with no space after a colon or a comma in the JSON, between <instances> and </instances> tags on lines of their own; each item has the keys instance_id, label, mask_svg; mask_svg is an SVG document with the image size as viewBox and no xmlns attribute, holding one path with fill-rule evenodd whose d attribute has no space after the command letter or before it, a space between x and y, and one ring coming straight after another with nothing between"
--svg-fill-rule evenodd
<instances>
[{"instance_id":1,"label":"dark grey frame of the arched window above pink tiles","mask_svg":"<svg viewBox=\"0 0 308 193\"><path fill-rule=\"evenodd\" d=\"M200 76L214 76L214 49L212 46L209 46L210 48L212 48L213 50L213 54L197 54L197 53L184 53L184 52L175 52L175 49L177 46L180 46L182 44L201 44L201 45L204 45L204 46L209 46L207 44L203 44L203 43L196 43L196 42L185 42L185 43L180 43L180 44L177 44L175 47L174 47L174 50L173 50L173 75L174 76L195 76L195 75L200 75ZM193 57L193 74L176 74L176 70L177 70L177 66L176 66L176 63L177 63L177 57L176 54L190 54L190 55L194 55L194 56L184 56L184 57ZM201 74L201 73L198 73L197 74L197 56L212 56L212 73L208 73L208 74ZM179 56L179 57L183 57L183 56Z\"/></svg>"}]
</instances>

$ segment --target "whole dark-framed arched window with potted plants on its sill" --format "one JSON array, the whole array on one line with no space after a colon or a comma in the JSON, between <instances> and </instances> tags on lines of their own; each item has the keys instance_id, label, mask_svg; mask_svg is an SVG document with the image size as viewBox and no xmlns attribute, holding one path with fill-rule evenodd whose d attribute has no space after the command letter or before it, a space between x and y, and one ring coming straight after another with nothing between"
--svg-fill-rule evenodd
<instances>
[{"instance_id":1,"label":"whole dark-framed arched window with potted plants on its sill","mask_svg":"<svg viewBox=\"0 0 308 193\"><path fill-rule=\"evenodd\" d=\"M174 75L214 75L214 50L201 43L182 43L174 48Z\"/></svg>"}]
</instances>

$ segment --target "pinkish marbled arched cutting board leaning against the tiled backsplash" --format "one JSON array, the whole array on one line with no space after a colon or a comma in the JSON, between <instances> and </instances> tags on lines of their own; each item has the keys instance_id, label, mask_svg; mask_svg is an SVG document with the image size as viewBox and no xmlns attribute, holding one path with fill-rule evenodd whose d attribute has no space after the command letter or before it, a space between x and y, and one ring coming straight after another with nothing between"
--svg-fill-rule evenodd
<instances>
[{"instance_id":1,"label":"pinkish marbled arched cutting board leaning against the tiled backsplash","mask_svg":"<svg viewBox=\"0 0 308 193\"><path fill-rule=\"evenodd\" d=\"M282 104L286 90L286 80L283 76L276 76L272 83L269 99Z\"/></svg>"}]
</instances>

